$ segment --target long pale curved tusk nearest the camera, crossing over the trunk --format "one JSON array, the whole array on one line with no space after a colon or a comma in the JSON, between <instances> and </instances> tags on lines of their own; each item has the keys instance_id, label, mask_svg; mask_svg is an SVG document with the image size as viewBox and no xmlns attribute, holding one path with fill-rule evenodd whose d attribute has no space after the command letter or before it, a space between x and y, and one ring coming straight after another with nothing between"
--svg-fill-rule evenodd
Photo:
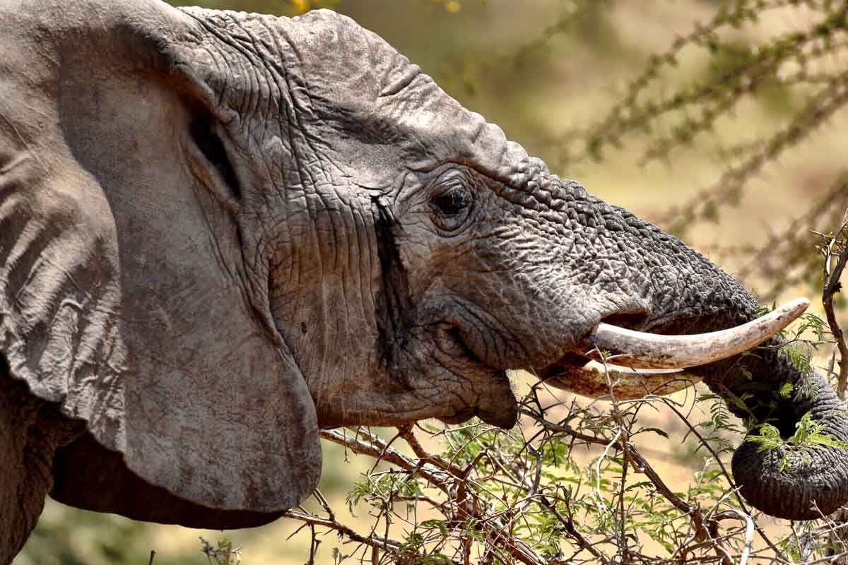
<instances>
[{"instance_id":1,"label":"long pale curved tusk nearest the camera, crossing over the trunk","mask_svg":"<svg viewBox=\"0 0 848 565\"><path fill-rule=\"evenodd\" d=\"M747 324L695 335L656 335L625 330L611 324L598 324L585 341L595 349L585 355L600 359L600 352L611 352L608 360L636 368L689 368L706 365L745 352L783 330L801 316L810 305L806 298L795 298L762 318Z\"/></svg>"}]
</instances>

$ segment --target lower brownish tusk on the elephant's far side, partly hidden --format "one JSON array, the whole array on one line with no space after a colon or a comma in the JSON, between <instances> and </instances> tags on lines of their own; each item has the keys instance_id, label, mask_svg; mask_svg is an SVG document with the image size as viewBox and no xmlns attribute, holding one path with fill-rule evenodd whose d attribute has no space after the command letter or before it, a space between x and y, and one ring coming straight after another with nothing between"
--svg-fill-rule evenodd
<instances>
[{"instance_id":1,"label":"lower brownish tusk on the elephant's far side, partly hidden","mask_svg":"<svg viewBox=\"0 0 848 565\"><path fill-rule=\"evenodd\" d=\"M633 400L645 395L670 395L695 385L700 377L679 370L656 369L639 371L607 364L616 400ZM562 373L544 379L545 385L571 391L581 396L600 398L610 396L604 366L594 361L583 367L566 368Z\"/></svg>"}]
</instances>

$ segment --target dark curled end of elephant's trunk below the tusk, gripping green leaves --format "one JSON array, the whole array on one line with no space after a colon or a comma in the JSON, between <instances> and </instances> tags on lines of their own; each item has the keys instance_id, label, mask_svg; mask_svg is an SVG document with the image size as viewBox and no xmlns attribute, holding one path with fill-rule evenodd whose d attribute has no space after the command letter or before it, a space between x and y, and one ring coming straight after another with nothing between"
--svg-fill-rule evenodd
<instances>
[{"instance_id":1,"label":"dark curled end of elephant's trunk below the tusk, gripping green leaves","mask_svg":"<svg viewBox=\"0 0 848 565\"><path fill-rule=\"evenodd\" d=\"M778 349L782 343L774 338L750 355L714 363L706 384L728 401L737 416L768 421L784 440L795 433L804 414L811 413L814 422L824 425L820 433L848 441L845 403L821 374L803 376L786 352ZM742 368L755 375L754 380L746 379ZM778 398L784 383L792 385L792 394ZM735 402L755 390L745 408ZM732 468L745 500L778 518L821 518L848 500L848 452L840 447L784 445L763 450L746 440L734 453Z\"/></svg>"}]
</instances>

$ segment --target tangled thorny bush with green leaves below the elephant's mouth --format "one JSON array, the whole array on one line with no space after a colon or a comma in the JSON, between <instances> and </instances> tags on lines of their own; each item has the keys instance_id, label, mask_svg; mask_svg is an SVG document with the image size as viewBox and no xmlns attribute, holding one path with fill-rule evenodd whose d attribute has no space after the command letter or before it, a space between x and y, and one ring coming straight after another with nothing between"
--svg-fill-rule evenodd
<instances>
[{"instance_id":1,"label":"tangled thorny bush with green leaves below the elephant's mouth","mask_svg":"<svg viewBox=\"0 0 848 565\"><path fill-rule=\"evenodd\" d=\"M286 516L310 531L310 562L318 562L318 538L332 532L343 546L356 546L346 551L349 555L338 556L374 565L789 563L791 544L804 545L845 528L825 520L814 527L815 534L771 543L756 515L731 503L738 496L721 462L709 478L699 481L701 490L690 486L688 492L678 492L635 441L646 431L635 427L639 409L667 406L670 401L653 396L616 402L610 385L611 405L602 407L597 402L589 407L574 402L566 406L550 391L540 391L544 385L533 387L520 408L524 417L520 435L481 423L442 429L404 427L393 434L404 440L403 446L370 429L322 431L324 439L383 463L366 474L357 500L377 511L372 517L385 523L385 529L377 534L374 523L364 534L349 527L320 491L315 493L319 512L298 508ZM686 422L710 459L726 455L688 423L691 414L671 405L671 413ZM433 451L432 446L438 446L435 440L447 449ZM579 471L575 483L568 479L568 469L577 468L572 457L578 446L603 455L591 465L582 464L589 476ZM624 468L630 469L627 475ZM636 475L647 480L639 482ZM706 501L710 503L705 505ZM420 519L419 513L426 513L427 519ZM726 521L741 522L742 527L722 531ZM767 546L755 546L757 532ZM671 544L666 546L667 557L658 557L656 546L646 547L645 535ZM815 556L825 550L813 545L804 551Z\"/></svg>"}]
</instances>

